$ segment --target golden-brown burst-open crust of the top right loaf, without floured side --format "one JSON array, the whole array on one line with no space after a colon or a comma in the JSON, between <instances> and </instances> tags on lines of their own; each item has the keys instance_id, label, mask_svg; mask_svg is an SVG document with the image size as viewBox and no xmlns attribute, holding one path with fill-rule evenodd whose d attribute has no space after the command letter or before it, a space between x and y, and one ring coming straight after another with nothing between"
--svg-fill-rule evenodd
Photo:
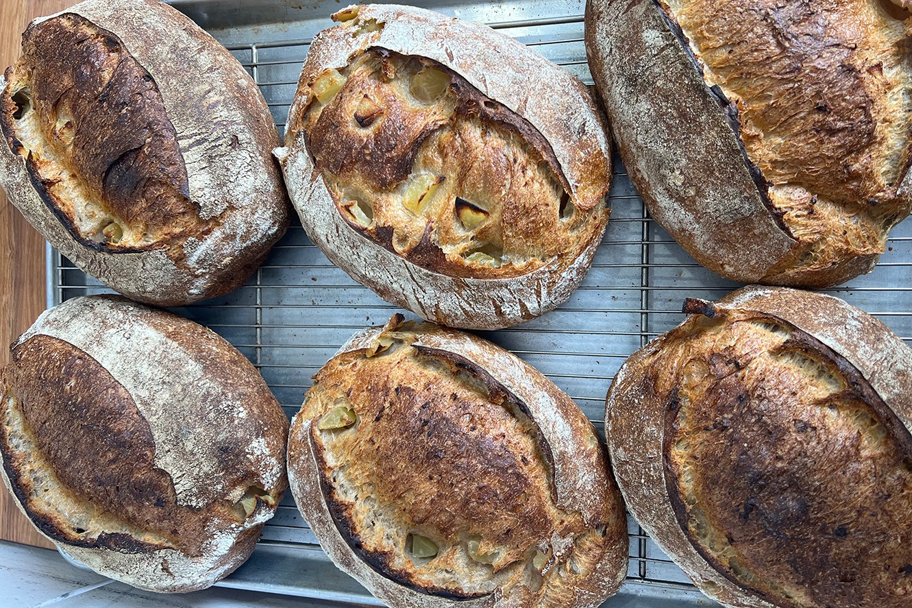
<instances>
[{"instance_id":1,"label":"golden-brown burst-open crust of the top right loaf, without floured side","mask_svg":"<svg viewBox=\"0 0 912 608\"><path fill-rule=\"evenodd\" d=\"M912 207L912 14L877 0L660 5L798 241L761 282L824 287L868 271Z\"/></svg>"}]
</instances>

